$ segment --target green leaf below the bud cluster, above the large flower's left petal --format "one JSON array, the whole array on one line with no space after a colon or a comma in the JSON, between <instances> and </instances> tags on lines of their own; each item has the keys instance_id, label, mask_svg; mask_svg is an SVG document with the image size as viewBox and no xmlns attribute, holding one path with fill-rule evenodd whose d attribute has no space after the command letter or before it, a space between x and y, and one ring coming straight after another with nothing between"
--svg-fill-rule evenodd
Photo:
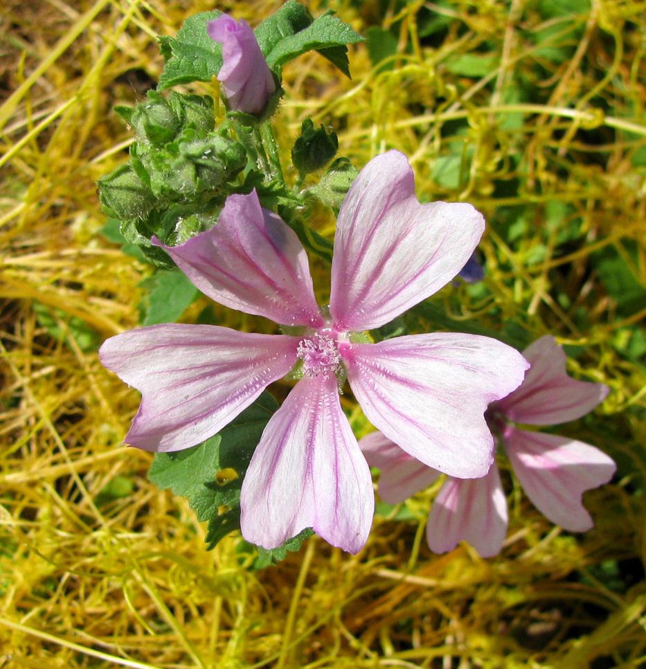
<instances>
[{"instance_id":1,"label":"green leaf below the bud cluster, above the large flower's left petal","mask_svg":"<svg viewBox=\"0 0 646 669\"><path fill-rule=\"evenodd\" d=\"M139 285L150 290L144 326L174 323L199 294L179 269L161 269Z\"/></svg>"}]
</instances>

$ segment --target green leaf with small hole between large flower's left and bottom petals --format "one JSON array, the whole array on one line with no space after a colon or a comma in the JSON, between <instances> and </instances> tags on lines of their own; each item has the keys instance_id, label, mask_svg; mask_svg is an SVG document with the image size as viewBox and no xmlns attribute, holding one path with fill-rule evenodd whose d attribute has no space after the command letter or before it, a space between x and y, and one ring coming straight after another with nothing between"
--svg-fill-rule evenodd
<instances>
[{"instance_id":1,"label":"green leaf with small hole between large flower's left and bottom petals","mask_svg":"<svg viewBox=\"0 0 646 669\"><path fill-rule=\"evenodd\" d=\"M160 490L188 498L199 521L207 521L206 542L213 548L240 529L240 488L249 461L278 403L267 391L222 431L197 446L156 453L148 479Z\"/></svg>"}]
</instances>

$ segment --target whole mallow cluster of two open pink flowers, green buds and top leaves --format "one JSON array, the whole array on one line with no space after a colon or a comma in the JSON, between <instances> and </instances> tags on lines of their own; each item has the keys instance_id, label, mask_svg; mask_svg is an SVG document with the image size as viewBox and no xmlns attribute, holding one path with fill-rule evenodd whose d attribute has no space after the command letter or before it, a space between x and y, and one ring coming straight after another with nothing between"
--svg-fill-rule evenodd
<instances>
[{"instance_id":1,"label":"whole mallow cluster of two open pink flowers, green buds and top leaves","mask_svg":"<svg viewBox=\"0 0 646 669\"><path fill-rule=\"evenodd\" d=\"M523 357L474 334L376 342L371 334L456 276L483 278L475 254L483 216L470 204L421 204L413 170L394 150L358 175L339 157L301 190L339 149L334 131L309 119L291 149L296 183L285 181L268 119L283 92L281 66L314 48L348 73L346 44L361 37L329 13L312 19L295 1L255 32L219 12L187 24L181 40L162 38L161 83L217 75L226 120L216 127L209 96L152 91L135 109L121 107L136 142L129 163L101 179L102 204L151 262L177 266L206 296L271 319L282 334L166 323L105 341L102 364L142 393L125 443L161 454L204 445L287 378L294 388L244 462L240 528L253 544L277 548L313 528L357 553L372 523L375 465L391 502L446 474L429 546L448 551L466 539L494 555L507 528L494 435L548 518L589 528L582 493L608 481L614 463L590 445L515 425L579 418L607 393L568 377L552 337ZM191 39L204 62L187 57ZM285 220L267 208L277 202ZM333 256L302 220L312 202L338 213ZM301 240L332 257L328 304L316 302ZM361 443L341 407L346 382L377 428Z\"/></svg>"}]
</instances>

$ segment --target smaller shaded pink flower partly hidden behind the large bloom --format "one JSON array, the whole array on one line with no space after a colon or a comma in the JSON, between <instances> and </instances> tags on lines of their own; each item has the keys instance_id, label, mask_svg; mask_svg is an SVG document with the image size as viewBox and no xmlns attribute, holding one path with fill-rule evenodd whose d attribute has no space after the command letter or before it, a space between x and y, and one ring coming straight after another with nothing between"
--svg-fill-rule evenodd
<instances>
[{"instance_id":1,"label":"smaller shaded pink flower partly hidden behind the large bloom","mask_svg":"<svg viewBox=\"0 0 646 669\"><path fill-rule=\"evenodd\" d=\"M492 404L487 420L499 433L532 503L562 528L585 532L593 521L582 495L610 481L615 463L589 444L519 429L514 423L557 425L581 418L606 398L608 388L569 377L563 348L549 334L537 339L523 355L532 365L525 381ZM364 437L359 445L368 463L382 469L379 494L388 503L404 501L440 476L379 432ZM507 499L494 464L479 479L447 478L431 507L427 541L432 551L446 553L465 540L483 558L490 558L501 551L507 524Z\"/></svg>"}]
</instances>

